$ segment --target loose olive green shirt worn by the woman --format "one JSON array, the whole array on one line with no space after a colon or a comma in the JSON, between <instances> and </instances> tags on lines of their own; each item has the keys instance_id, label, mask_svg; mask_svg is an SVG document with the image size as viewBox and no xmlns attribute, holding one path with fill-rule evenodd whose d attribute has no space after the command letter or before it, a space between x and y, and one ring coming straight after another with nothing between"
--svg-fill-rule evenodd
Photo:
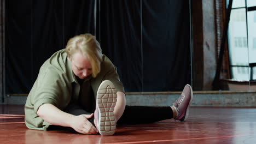
<instances>
[{"instance_id":1,"label":"loose olive green shirt worn by the woman","mask_svg":"<svg viewBox=\"0 0 256 144\"><path fill-rule=\"evenodd\" d=\"M89 94L86 89L91 87L92 93L96 97L98 87L103 80L112 81L117 91L124 92L123 84L117 74L117 68L106 56L102 55L102 59L100 73L95 78L88 76L84 80L82 90L85 89L85 91L82 91L82 94L80 94L82 98L79 98L81 105L88 103L88 101L83 100L83 97ZM55 52L40 68L37 80L28 94L25 104L25 124L27 128L47 130L51 124L37 115L39 106L48 103L63 110L71 101L71 97L78 98L79 92L80 85L72 71L65 49Z\"/></svg>"}]
</instances>

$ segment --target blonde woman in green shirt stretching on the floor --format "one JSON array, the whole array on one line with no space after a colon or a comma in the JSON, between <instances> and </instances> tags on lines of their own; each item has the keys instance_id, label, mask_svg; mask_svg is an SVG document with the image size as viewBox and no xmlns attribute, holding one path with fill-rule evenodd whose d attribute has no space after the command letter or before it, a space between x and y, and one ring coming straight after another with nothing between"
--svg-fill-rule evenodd
<instances>
[{"instance_id":1,"label":"blonde woman in green shirt stretching on the floor","mask_svg":"<svg viewBox=\"0 0 256 144\"><path fill-rule=\"evenodd\" d=\"M81 34L40 68L25 104L25 123L37 130L113 135L117 124L185 122L192 99L186 85L172 106L127 106L117 68L93 35Z\"/></svg>"}]
</instances>

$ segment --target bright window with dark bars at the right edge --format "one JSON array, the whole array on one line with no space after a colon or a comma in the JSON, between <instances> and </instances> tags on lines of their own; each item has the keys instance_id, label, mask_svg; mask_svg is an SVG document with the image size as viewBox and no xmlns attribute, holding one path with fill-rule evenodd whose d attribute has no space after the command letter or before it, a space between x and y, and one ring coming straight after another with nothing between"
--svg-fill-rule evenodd
<instances>
[{"instance_id":1,"label":"bright window with dark bars at the right edge","mask_svg":"<svg viewBox=\"0 0 256 144\"><path fill-rule=\"evenodd\" d=\"M249 63L256 63L255 0L233 0L228 37L231 78L248 81Z\"/></svg>"}]
</instances>

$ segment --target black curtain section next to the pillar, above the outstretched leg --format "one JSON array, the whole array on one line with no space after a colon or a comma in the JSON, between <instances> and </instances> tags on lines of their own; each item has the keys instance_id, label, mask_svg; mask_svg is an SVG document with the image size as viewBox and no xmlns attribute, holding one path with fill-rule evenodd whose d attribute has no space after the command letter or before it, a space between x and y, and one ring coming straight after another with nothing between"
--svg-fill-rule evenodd
<instances>
[{"instance_id":1,"label":"black curtain section next to the pillar, above the outstretched leg","mask_svg":"<svg viewBox=\"0 0 256 144\"><path fill-rule=\"evenodd\" d=\"M142 4L144 91L182 91L190 83L189 1Z\"/></svg>"}]
</instances>

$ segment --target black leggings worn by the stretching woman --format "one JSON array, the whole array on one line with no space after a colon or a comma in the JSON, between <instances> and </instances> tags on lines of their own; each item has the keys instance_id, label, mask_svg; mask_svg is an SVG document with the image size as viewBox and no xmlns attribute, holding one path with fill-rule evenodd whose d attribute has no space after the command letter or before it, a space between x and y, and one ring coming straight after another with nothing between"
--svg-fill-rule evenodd
<instances>
[{"instance_id":1,"label":"black leggings worn by the stretching woman","mask_svg":"<svg viewBox=\"0 0 256 144\"><path fill-rule=\"evenodd\" d=\"M78 116L83 114L90 115L79 105L70 104L65 110L67 113ZM165 119L173 118L173 112L170 106L125 106L125 111L117 124L142 124L155 123ZM94 125L94 117L88 119ZM94 125L95 126L95 125ZM50 125L48 130L60 130L63 127Z\"/></svg>"}]
</instances>

